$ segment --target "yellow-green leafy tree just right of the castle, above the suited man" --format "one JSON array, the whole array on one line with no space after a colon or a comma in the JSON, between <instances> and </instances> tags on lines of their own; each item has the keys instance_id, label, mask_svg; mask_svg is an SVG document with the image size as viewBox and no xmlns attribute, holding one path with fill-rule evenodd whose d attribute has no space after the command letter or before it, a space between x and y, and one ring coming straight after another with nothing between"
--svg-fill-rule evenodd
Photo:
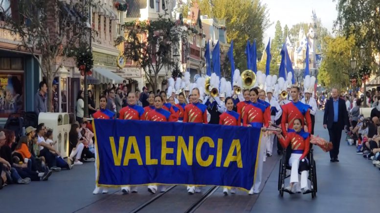
<instances>
[{"instance_id":1,"label":"yellow-green leafy tree just right of the castle, above the suited man","mask_svg":"<svg viewBox=\"0 0 380 213\"><path fill-rule=\"evenodd\" d=\"M350 85L350 60L357 55L353 36L346 39L343 36L336 38L326 37L326 46L323 48L323 60L318 73L318 80L327 87L345 88ZM358 61L360 64L361 62Z\"/></svg>"}]
</instances>

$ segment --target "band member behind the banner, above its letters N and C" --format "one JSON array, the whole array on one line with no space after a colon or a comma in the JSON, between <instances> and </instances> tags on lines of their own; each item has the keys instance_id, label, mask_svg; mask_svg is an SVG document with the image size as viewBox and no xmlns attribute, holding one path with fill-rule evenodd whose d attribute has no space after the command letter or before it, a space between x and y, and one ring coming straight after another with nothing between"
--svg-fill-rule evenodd
<instances>
[{"instance_id":1,"label":"band member behind the banner, above its letters N and C","mask_svg":"<svg viewBox=\"0 0 380 213\"><path fill-rule=\"evenodd\" d=\"M207 124L207 107L204 104L199 102L199 98L201 97L201 93L198 88L194 88L192 90L191 95L193 102L185 106L185 112L183 115L184 123L205 123ZM187 193L194 194L200 193L200 189L196 189L195 186L187 186Z\"/></svg>"}]
</instances>

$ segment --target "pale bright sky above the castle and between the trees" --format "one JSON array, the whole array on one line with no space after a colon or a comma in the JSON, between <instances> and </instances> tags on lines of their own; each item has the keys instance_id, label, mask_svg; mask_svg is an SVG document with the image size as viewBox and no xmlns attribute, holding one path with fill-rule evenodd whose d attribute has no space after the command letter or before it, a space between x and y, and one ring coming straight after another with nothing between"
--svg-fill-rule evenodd
<instances>
[{"instance_id":1,"label":"pale bright sky above the castle and between the trees","mask_svg":"<svg viewBox=\"0 0 380 213\"><path fill-rule=\"evenodd\" d=\"M336 19L336 2L333 0L262 0L267 4L269 10L269 20L273 24L265 31L264 42L267 43L269 37L274 37L274 27L277 20L280 20L284 29L285 24L291 26L299 22L310 22L312 10L315 10L317 18L320 18L322 25L330 32L333 30Z\"/></svg>"}]
</instances>

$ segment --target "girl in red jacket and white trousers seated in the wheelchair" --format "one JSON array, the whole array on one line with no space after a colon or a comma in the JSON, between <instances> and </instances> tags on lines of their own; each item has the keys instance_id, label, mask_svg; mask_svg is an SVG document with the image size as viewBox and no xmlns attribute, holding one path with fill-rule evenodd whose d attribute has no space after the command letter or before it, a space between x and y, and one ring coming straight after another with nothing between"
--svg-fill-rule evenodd
<instances>
[{"instance_id":1,"label":"girl in red jacket and white trousers seated in the wheelchair","mask_svg":"<svg viewBox=\"0 0 380 213\"><path fill-rule=\"evenodd\" d=\"M309 193L308 175L309 175L309 160L306 158L310 149L310 134L302 129L301 119L297 118L293 121L293 132L288 132L284 138L281 135L281 129L277 129L281 146L286 149L291 145L291 157L289 165L291 166L290 186L284 189L285 192L290 194L300 193L301 190L304 194ZM299 189L298 171L301 172L301 190Z\"/></svg>"}]
</instances>

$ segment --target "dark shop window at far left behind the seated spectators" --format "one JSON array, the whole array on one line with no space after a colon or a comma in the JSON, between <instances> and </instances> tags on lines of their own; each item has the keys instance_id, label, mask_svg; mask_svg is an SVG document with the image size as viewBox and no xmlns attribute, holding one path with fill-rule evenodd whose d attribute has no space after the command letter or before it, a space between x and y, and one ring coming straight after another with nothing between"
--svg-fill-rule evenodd
<instances>
[{"instance_id":1,"label":"dark shop window at far left behind the seated spectators","mask_svg":"<svg viewBox=\"0 0 380 213\"><path fill-rule=\"evenodd\" d=\"M24 74L0 74L0 117L24 111Z\"/></svg>"}]
</instances>

